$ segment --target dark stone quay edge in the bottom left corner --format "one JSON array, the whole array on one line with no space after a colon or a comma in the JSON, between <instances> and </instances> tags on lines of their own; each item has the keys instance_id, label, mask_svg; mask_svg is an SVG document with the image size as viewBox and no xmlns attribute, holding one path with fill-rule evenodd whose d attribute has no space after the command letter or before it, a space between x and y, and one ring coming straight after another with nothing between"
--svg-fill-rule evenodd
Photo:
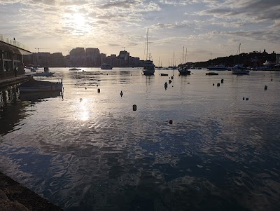
<instances>
[{"instance_id":1,"label":"dark stone quay edge in the bottom left corner","mask_svg":"<svg viewBox=\"0 0 280 211\"><path fill-rule=\"evenodd\" d=\"M0 172L0 210L63 211L34 191Z\"/></svg>"}]
</instances>

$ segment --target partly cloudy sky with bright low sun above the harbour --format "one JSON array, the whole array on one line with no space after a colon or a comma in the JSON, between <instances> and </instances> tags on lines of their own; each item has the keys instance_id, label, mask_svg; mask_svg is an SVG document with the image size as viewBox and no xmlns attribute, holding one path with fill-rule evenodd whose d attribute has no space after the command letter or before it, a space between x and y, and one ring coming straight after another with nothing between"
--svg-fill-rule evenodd
<instances>
[{"instance_id":1,"label":"partly cloudy sky with bright low sun above the harbour","mask_svg":"<svg viewBox=\"0 0 280 211\"><path fill-rule=\"evenodd\" d=\"M279 0L0 0L0 34L31 52L76 47L146 59L155 65L266 49L280 53ZM184 49L184 56L183 56Z\"/></svg>"}]
</instances>

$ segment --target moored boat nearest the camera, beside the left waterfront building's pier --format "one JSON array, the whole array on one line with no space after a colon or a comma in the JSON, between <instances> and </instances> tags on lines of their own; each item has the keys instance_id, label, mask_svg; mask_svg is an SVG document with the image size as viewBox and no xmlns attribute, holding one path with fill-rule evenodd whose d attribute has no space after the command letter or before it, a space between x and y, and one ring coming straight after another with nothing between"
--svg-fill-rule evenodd
<instances>
[{"instance_id":1,"label":"moored boat nearest the camera, beside the left waterfront building's pier","mask_svg":"<svg viewBox=\"0 0 280 211\"><path fill-rule=\"evenodd\" d=\"M62 91L63 85L62 81L55 83L50 81L37 81L32 78L20 84L18 88L20 89L20 93L52 92Z\"/></svg>"}]
</instances>

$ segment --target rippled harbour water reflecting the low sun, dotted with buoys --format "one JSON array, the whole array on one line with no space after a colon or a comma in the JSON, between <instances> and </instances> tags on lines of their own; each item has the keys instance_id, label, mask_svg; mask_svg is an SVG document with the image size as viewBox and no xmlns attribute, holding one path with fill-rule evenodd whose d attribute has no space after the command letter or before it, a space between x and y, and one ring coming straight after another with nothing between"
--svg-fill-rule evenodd
<instances>
[{"instance_id":1,"label":"rippled harbour water reflecting the low sun, dotted with buoys","mask_svg":"<svg viewBox=\"0 0 280 211\"><path fill-rule=\"evenodd\" d=\"M1 172L67 211L279 210L280 72L84 70L1 91Z\"/></svg>"}]
</instances>

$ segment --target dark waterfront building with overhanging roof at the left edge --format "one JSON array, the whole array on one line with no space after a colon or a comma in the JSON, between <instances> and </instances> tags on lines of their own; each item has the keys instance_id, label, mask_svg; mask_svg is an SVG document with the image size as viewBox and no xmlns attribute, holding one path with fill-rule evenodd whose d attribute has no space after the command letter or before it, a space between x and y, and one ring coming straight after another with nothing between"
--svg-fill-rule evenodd
<instances>
[{"instance_id":1,"label":"dark waterfront building with overhanging roof at the left edge","mask_svg":"<svg viewBox=\"0 0 280 211\"><path fill-rule=\"evenodd\" d=\"M25 75L23 55L28 54L31 51L26 46L0 34L0 80Z\"/></svg>"}]
</instances>

